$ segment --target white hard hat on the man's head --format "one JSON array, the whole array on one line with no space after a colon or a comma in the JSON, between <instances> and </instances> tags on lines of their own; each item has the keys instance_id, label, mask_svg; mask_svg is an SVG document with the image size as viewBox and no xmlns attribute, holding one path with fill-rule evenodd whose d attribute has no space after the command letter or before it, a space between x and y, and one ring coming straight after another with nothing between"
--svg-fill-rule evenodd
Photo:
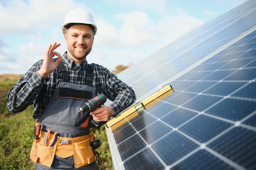
<instances>
[{"instance_id":1,"label":"white hard hat on the man's head","mask_svg":"<svg viewBox=\"0 0 256 170\"><path fill-rule=\"evenodd\" d=\"M69 11L65 17L62 32L65 33L65 29L69 29L70 26L76 24L84 24L92 28L93 35L97 32L97 26L94 23L92 14L82 8L76 8Z\"/></svg>"}]
</instances>

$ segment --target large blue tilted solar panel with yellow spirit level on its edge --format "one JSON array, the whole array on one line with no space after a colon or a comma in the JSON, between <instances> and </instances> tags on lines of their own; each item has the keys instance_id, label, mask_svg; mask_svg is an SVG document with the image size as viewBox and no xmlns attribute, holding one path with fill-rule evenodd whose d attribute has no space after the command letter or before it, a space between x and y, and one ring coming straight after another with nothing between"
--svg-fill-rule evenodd
<instances>
[{"instance_id":1,"label":"large blue tilted solar panel with yellow spirit level on its edge","mask_svg":"<svg viewBox=\"0 0 256 170\"><path fill-rule=\"evenodd\" d=\"M137 100L106 124L115 170L256 169L255 23L249 0L118 75Z\"/></svg>"}]
</instances>

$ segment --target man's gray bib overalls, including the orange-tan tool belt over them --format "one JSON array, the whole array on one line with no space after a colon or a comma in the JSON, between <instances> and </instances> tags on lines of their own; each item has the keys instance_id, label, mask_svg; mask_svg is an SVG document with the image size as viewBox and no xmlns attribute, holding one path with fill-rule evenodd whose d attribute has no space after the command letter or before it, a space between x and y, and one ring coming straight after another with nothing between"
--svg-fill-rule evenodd
<instances>
[{"instance_id":1,"label":"man's gray bib overalls, including the orange-tan tool belt over them","mask_svg":"<svg viewBox=\"0 0 256 170\"><path fill-rule=\"evenodd\" d=\"M89 164L86 167L93 166L92 169L95 169L94 152L90 146L90 142L94 140L94 135L90 134L92 116L90 112L76 113L79 107L96 96L91 86L92 66L88 64L87 85L68 82L63 67L63 63L58 66L63 82L59 82L39 119L41 124L39 141L33 143L30 158L36 159L33 161L40 164L36 165L36 168L40 166L38 169L42 169L42 165L56 169L68 168L69 165L58 165L60 159L64 162L62 164L71 161L74 168ZM71 167L70 165L70 169Z\"/></svg>"}]
</instances>

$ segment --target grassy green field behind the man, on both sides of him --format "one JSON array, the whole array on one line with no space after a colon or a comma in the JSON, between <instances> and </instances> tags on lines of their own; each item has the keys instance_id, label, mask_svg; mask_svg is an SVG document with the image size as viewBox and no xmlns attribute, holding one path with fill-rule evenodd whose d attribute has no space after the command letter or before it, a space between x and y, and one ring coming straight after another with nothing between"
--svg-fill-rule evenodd
<instances>
[{"instance_id":1,"label":"grassy green field behind the man, on both sides of him","mask_svg":"<svg viewBox=\"0 0 256 170\"><path fill-rule=\"evenodd\" d=\"M7 109L7 93L21 75L0 75L0 170L33 170L29 153L34 138L32 118L34 108L29 106L21 113ZM92 128L92 133L102 141L97 151L101 156L99 170L113 170L105 127Z\"/></svg>"}]
</instances>

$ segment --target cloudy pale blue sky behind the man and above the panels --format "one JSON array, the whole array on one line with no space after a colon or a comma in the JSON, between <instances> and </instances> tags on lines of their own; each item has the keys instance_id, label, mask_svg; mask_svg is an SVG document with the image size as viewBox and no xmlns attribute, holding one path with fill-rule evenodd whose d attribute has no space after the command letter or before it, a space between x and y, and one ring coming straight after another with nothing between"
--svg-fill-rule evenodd
<instances>
[{"instance_id":1,"label":"cloudy pale blue sky behind the man and above the panels","mask_svg":"<svg viewBox=\"0 0 256 170\"><path fill-rule=\"evenodd\" d=\"M97 34L89 63L132 65L247 0L0 0L0 75L25 74L49 44L67 51L65 15L82 7Z\"/></svg>"}]
</instances>

